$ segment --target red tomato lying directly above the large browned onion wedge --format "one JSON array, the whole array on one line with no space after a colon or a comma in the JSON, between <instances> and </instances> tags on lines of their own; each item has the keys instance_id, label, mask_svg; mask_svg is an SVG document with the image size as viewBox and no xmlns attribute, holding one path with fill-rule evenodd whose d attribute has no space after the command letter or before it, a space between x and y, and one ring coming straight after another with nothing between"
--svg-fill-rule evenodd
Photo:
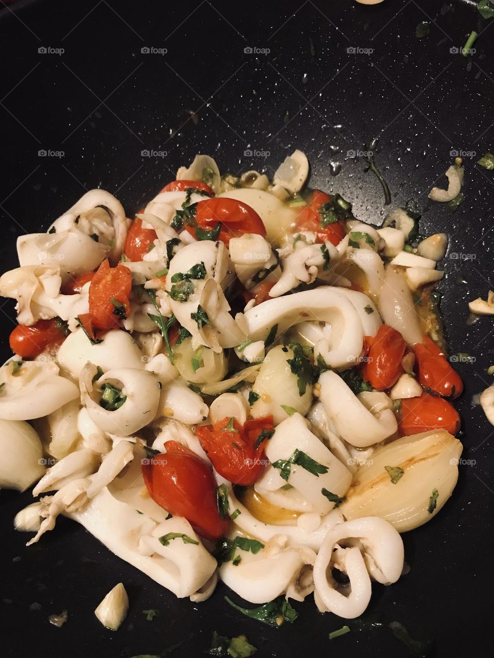
<instances>
[{"instance_id":1,"label":"red tomato lying directly above the large browned onion wedge","mask_svg":"<svg viewBox=\"0 0 494 658\"><path fill-rule=\"evenodd\" d=\"M439 429L456 434L461 425L460 415L450 402L425 392L420 397L402 399L401 415L398 428L402 436Z\"/></svg>"}]
</instances>

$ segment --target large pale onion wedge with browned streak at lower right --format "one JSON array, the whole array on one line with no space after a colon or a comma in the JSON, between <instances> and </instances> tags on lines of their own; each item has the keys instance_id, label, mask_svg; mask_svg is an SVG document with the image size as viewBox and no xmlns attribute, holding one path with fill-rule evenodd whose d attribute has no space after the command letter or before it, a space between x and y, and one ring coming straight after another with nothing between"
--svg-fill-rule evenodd
<instances>
[{"instance_id":1,"label":"large pale onion wedge with browned streak at lower right","mask_svg":"<svg viewBox=\"0 0 494 658\"><path fill-rule=\"evenodd\" d=\"M421 526L451 496L462 449L446 430L403 436L383 445L354 474L341 513L347 520L381 517L398 532Z\"/></svg>"}]
</instances>

